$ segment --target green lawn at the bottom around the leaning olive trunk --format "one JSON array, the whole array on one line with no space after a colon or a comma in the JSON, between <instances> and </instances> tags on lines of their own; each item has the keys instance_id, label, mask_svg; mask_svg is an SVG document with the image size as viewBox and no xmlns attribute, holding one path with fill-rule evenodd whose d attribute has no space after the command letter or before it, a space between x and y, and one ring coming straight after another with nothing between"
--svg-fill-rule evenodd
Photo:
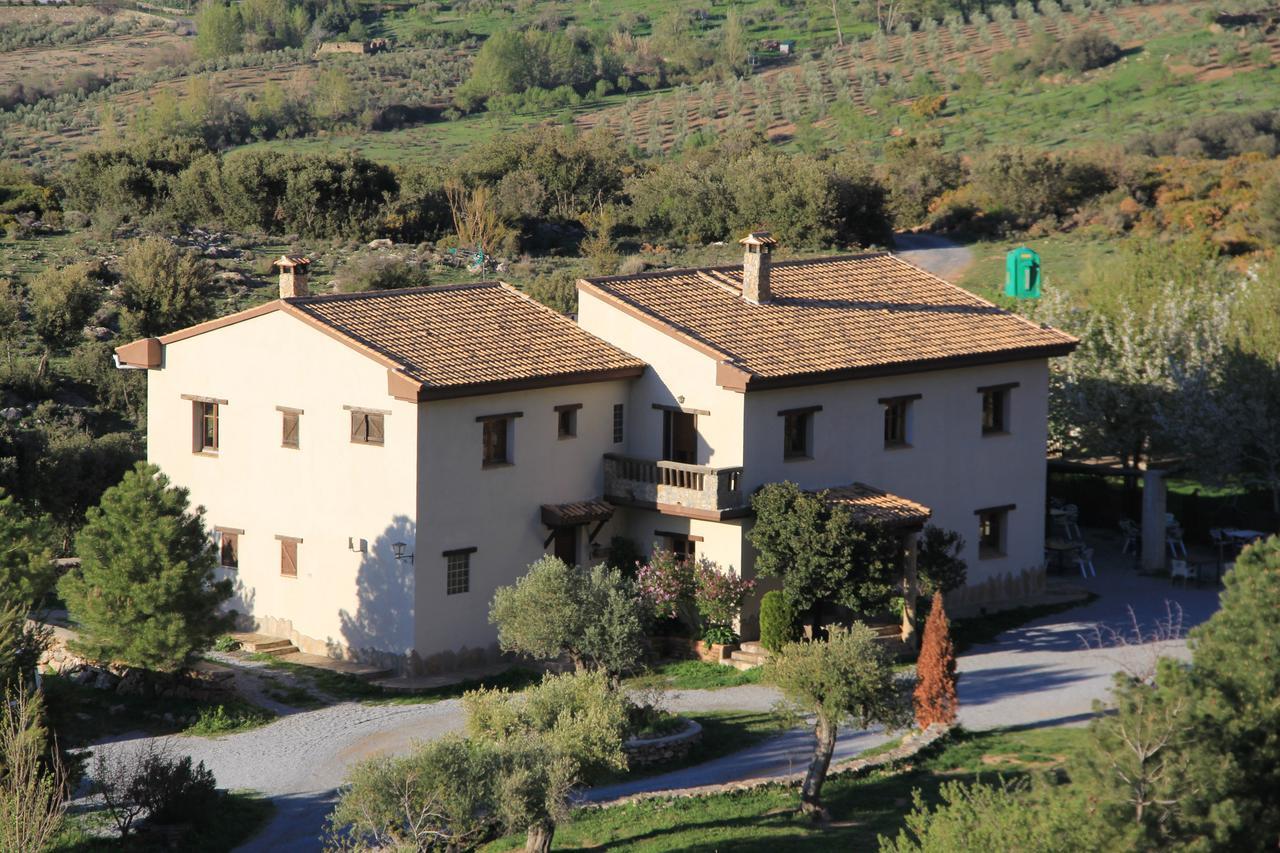
<instances>
[{"instance_id":1,"label":"green lawn at the bottom around the leaning olive trunk","mask_svg":"<svg viewBox=\"0 0 1280 853\"><path fill-rule=\"evenodd\" d=\"M814 826L795 812L794 788L628 806L579 809L556 831L557 850L867 850L879 835L896 835L919 789L933 803L946 781L996 783L1033 768L1070 762L1087 738L1084 729L957 733L937 752L899 771L859 779L835 777L824 789L829 826ZM490 852L517 849L522 838L499 839Z\"/></svg>"}]
</instances>

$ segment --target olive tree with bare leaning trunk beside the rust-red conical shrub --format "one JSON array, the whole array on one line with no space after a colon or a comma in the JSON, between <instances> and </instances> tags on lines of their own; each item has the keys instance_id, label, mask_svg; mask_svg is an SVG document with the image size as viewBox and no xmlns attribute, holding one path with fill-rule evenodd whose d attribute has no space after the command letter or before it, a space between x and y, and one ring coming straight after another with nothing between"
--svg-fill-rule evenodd
<instances>
[{"instance_id":1,"label":"olive tree with bare leaning trunk beside the rust-red conical shrub","mask_svg":"<svg viewBox=\"0 0 1280 853\"><path fill-rule=\"evenodd\" d=\"M906 683L895 678L888 653L861 622L831 625L826 640L783 646L765 661L763 680L777 686L794 711L817 717L817 745L800 788L800 809L815 818L827 817L822 785L840 726L895 729L911 719Z\"/></svg>"}]
</instances>

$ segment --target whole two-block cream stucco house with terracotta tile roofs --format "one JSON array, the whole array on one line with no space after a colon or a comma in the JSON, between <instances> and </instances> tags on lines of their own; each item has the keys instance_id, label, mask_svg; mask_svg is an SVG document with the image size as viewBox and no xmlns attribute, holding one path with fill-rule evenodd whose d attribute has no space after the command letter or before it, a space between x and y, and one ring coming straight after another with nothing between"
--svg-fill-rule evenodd
<instances>
[{"instance_id":1,"label":"whole two-block cream stucco house with terracotta tile roofs","mask_svg":"<svg viewBox=\"0 0 1280 853\"><path fill-rule=\"evenodd\" d=\"M778 480L959 530L1000 606L1043 564L1047 360L1074 339L888 254L744 245L582 280L576 323L500 283L312 296L283 257L279 300L118 355L233 606L303 651L475 661L494 589L613 535L750 576Z\"/></svg>"}]
</instances>

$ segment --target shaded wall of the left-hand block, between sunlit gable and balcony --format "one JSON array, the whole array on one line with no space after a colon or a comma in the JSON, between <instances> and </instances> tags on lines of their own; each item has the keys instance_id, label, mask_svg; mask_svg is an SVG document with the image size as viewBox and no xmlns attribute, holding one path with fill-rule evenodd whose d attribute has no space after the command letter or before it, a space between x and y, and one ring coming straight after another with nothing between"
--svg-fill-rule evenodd
<instances>
[{"instance_id":1,"label":"shaded wall of the left-hand block, between sunlit gable and balcony","mask_svg":"<svg viewBox=\"0 0 1280 853\"><path fill-rule=\"evenodd\" d=\"M485 648L497 639L489 603L544 553L550 533L543 503L568 503L603 493L603 462L613 443L613 405L626 402L627 382L562 386L422 403L422 480L419 493L416 643L424 657L445 649ZM557 437L556 406L582 403L577 437ZM513 465L485 469L477 416L524 412L515 419ZM591 525L594 528L594 525ZM580 534L580 552L590 528ZM596 542L608 544L611 530ZM445 594L444 551L476 548L471 590ZM549 547L548 547L549 549Z\"/></svg>"}]
</instances>

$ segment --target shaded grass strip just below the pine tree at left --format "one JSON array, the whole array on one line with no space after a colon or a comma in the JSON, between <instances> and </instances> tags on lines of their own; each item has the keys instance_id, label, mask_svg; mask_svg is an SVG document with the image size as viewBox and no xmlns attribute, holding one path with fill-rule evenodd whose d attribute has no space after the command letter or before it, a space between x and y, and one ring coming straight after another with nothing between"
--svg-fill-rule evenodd
<instances>
[{"instance_id":1,"label":"shaded grass strip just below the pine tree at left","mask_svg":"<svg viewBox=\"0 0 1280 853\"><path fill-rule=\"evenodd\" d=\"M44 676L44 689L54 731L68 747L140 730L152 735L232 734L265 725L275 717L239 698L197 702L119 695L74 684L61 675Z\"/></svg>"}]
</instances>

